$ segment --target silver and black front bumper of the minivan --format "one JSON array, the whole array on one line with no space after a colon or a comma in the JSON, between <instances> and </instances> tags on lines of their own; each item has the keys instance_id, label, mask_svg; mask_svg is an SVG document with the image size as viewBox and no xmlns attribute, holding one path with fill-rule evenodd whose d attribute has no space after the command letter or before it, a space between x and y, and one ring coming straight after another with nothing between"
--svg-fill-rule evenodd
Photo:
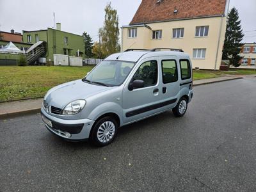
<instances>
[{"instance_id":1,"label":"silver and black front bumper of the minivan","mask_svg":"<svg viewBox=\"0 0 256 192\"><path fill-rule=\"evenodd\" d=\"M41 115L42 118L44 116L43 122L50 132L67 140L88 139L94 124L94 121L88 118L79 120L64 120L56 118L55 116L51 116L47 113L44 108L41 108ZM51 123L49 123L49 121L51 121Z\"/></svg>"}]
</instances>

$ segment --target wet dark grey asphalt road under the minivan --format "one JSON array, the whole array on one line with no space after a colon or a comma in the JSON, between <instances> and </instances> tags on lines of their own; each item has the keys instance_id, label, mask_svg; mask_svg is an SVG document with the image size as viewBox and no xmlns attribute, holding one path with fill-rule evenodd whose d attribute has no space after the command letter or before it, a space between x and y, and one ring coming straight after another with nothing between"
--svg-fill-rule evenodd
<instances>
[{"instance_id":1,"label":"wet dark grey asphalt road under the minivan","mask_svg":"<svg viewBox=\"0 0 256 192\"><path fill-rule=\"evenodd\" d=\"M195 87L186 115L122 127L104 148L0 121L0 191L256 191L256 78Z\"/></svg>"}]
</instances>

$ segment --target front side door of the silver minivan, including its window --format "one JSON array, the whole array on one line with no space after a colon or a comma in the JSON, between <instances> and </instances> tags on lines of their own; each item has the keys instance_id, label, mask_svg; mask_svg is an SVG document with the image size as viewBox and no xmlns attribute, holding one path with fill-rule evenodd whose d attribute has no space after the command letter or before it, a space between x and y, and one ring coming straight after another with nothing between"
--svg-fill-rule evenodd
<instances>
[{"instance_id":1,"label":"front side door of the silver minivan, including its window","mask_svg":"<svg viewBox=\"0 0 256 192\"><path fill-rule=\"evenodd\" d=\"M159 111L159 65L156 58L143 60L135 68L134 74L128 79L123 91L124 123L134 122ZM144 81L143 88L129 90L134 80Z\"/></svg>"}]
</instances>

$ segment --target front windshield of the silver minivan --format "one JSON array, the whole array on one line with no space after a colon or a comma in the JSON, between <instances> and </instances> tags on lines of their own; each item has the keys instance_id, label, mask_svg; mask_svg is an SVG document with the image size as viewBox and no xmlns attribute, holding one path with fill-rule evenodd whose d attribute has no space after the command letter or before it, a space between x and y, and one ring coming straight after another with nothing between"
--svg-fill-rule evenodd
<instances>
[{"instance_id":1,"label":"front windshield of the silver minivan","mask_svg":"<svg viewBox=\"0 0 256 192\"><path fill-rule=\"evenodd\" d=\"M124 83L134 65L130 61L102 61L83 81L103 86L119 86Z\"/></svg>"}]
</instances>

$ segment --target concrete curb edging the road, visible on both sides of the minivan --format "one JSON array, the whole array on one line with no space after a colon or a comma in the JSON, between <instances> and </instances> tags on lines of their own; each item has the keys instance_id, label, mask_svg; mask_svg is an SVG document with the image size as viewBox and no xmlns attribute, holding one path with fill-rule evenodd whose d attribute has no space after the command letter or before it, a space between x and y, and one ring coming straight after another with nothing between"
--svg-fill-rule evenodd
<instances>
[{"instance_id":1,"label":"concrete curb edging the road, visible on both sides of the minivan","mask_svg":"<svg viewBox=\"0 0 256 192\"><path fill-rule=\"evenodd\" d=\"M232 81L236 79L243 79L243 77L234 77L232 79L222 79L222 80L217 80L217 81L209 81L205 83L198 83L198 84L193 84L193 86L200 86L204 84L212 84L212 83L220 83L223 81ZM13 118L15 116L23 116L23 115L30 115L33 113L40 113L41 108L33 108L33 109L26 109L26 110L20 110L20 111L15 111L12 113L0 113L0 120L4 118Z\"/></svg>"}]
</instances>

